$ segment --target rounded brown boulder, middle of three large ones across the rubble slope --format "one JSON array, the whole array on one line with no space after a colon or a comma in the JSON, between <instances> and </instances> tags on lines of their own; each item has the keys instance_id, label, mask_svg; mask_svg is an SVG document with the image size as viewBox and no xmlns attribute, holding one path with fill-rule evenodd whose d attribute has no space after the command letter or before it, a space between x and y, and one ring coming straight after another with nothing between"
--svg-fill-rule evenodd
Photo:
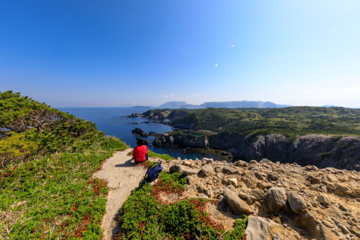
<instances>
[{"instance_id":1,"label":"rounded brown boulder, middle of three large ones across the rubble slope","mask_svg":"<svg viewBox=\"0 0 360 240\"><path fill-rule=\"evenodd\" d=\"M269 212L277 212L282 207L286 206L287 196L285 193L285 188L283 187L271 187L268 194L265 197L265 208Z\"/></svg>"}]
</instances>

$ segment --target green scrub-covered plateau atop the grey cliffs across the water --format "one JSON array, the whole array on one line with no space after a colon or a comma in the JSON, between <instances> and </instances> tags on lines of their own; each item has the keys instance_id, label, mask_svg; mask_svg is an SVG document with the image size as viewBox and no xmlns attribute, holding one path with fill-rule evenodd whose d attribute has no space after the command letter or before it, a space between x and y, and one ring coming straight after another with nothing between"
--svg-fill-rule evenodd
<instances>
[{"instance_id":1,"label":"green scrub-covered plateau atop the grey cliffs across the water","mask_svg":"<svg viewBox=\"0 0 360 240\"><path fill-rule=\"evenodd\" d=\"M360 135L360 109L288 107L277 109L198 109L173 121L175 127L246 136L283 134Z\"/></svg>"}]
</instances>

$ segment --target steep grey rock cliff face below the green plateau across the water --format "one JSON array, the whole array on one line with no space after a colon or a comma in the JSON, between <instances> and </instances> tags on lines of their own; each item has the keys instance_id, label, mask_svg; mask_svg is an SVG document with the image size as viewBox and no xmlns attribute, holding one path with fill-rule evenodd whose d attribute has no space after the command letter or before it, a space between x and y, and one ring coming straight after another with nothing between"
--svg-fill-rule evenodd
<instances>
[{"instance_id":1,"label":"steep grey rock cliff face below the green plateau across the water","mask_svg":"<svg viewBox=\"0 0 360 240\"><path fill-rule=\"evenodd\" d=\"M208 138L188 135L162 136L153 142L154 146L172 144L222 149L246 161L267 158L283 164L296 162L301 166L332 166L360 171L360 137L355 136L305 135L291 141L279 134L259 135L251 139L220 133Z\"/></svg>"}]
</instances>

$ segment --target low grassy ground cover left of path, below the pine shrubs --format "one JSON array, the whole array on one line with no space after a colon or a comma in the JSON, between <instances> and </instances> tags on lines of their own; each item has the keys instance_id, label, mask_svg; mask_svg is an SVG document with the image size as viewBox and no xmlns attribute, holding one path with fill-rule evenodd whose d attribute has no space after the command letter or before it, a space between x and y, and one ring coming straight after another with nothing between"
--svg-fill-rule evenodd
<instances>
[{"instance_id":1,"label":"low grassy ground cover left of path, below the pine shrubs","mask_svg":"<svg viewBox=\"0 0 360 240\"><path fill-rule=\"evenodd\" d=\"M120 139L46 155L0 170L0 238L101 240L107 183L91 175Z\"/></svg>"}]
</instances>

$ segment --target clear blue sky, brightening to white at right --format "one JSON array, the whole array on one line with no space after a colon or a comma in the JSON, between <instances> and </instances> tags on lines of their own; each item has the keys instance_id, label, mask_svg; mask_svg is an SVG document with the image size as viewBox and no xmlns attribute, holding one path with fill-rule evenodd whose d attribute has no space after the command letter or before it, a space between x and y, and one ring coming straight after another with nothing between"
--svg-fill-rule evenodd
<instances>
[{"instance_id":1,"label":"clear blue sky, brightening to white at right","mask_svg":"<svg viewBox=\"0 0 360 240\"><path fill-rule=\"evenodd\" d=\"M360 107L359 0L0 0L0 91L53 107Z\"/></svg>"}]
</instances>

